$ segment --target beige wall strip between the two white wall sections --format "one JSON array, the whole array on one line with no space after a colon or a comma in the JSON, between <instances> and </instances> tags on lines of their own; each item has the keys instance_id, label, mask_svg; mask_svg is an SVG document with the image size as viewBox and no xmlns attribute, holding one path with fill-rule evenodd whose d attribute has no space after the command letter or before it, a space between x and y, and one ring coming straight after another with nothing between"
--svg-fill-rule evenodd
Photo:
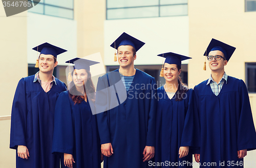
<instances>
[{"instance_id":1,"label":"beige wall strip between the two white wall sections","mask_svg":"<svg viewBox=\"0 0 256 168\"><path fill-rule=\"evenodd\" d=\"M105 1L74 1L74 18L77 21L77 56L103 53Z\"/></svg>"}]
</instances>

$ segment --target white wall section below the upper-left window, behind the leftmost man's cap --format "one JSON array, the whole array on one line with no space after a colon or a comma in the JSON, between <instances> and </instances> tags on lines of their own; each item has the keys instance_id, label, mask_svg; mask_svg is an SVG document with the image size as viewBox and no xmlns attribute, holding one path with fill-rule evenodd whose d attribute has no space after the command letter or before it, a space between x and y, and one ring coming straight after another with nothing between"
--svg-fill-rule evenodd
<instances>
[{"instance_id":1,"label":"white wall section below the upper-left window, behind the leftmost man's cap","mask_svg":"<svg viewBox=\"0 0 256 168\"><path fill-rule=\"evenodd\" d=\"M77 56L77 21L28 12L27 51L28 63L35 64L40 53L33 47L48 42L68 50L57 57L58 65ZM39 69L38 69L39 70Z\"/></svg>"}]
</instances>

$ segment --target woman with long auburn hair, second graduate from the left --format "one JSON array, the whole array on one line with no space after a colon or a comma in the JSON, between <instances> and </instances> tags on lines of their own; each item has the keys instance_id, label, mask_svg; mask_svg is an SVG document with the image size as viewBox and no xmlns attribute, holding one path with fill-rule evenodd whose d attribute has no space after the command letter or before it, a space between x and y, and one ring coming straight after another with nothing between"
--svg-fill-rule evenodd
<instances>
[{"instance_id":1,"label":"woman with long auburn hair, second graduate from the left","mask_svg":"<svg viewBox=\"0 0 256 168\"><path fill-rule=\"evenodd\" d=\"M96 115L91 110L93 103L89 103L94 102L95 97L88 96L95 92L90 66L98 62L74 58L66 63L75 66L69 74L72 80L69 90L61 92L56 102L52 152L63 154L63 163L67 167L99 168L103 157Z\"/></svg>"}]
</instances>

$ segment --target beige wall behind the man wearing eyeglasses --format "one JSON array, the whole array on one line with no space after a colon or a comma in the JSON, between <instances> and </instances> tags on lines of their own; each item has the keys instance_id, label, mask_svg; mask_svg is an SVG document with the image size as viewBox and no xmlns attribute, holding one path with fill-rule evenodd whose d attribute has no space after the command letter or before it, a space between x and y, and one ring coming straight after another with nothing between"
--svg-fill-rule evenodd
<instances>
[{"instance_id":1,"label":"beige wall behind the man wearing eyeglasses","mask_svg":"<svg viewBox=\"0 0 256 168\"><path fill-rule=\"evenodd\" d=\"M189 56L188 83L194 87L210 76L203 70L203 56L211 38L237 47L225 66L227 75L245 80L245 62L256 62L256 12L244 12L245 1L188 0L189 16ZM254 126L256 124L256 94L249 94ZM244 167L255 167L256 151L250 151L245 157Z\"/></svg>"}]
</instances>

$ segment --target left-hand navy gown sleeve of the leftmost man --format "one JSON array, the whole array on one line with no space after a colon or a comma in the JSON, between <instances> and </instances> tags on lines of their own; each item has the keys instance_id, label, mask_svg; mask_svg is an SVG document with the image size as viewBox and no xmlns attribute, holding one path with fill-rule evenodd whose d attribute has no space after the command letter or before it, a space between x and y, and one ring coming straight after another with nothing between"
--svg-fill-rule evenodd
<instances>
[{"instance_id":1,"label":"left-hand navy gown sleeve of the leftmost man","mask_svg":"<svg viewBox=\"0 0 256 168\"><path fill-rule=\"evenodd\" d=\"M25 79L19 80L12 103L10 148L26 146L27 102Z\"/></svg>"}]
</instances>

